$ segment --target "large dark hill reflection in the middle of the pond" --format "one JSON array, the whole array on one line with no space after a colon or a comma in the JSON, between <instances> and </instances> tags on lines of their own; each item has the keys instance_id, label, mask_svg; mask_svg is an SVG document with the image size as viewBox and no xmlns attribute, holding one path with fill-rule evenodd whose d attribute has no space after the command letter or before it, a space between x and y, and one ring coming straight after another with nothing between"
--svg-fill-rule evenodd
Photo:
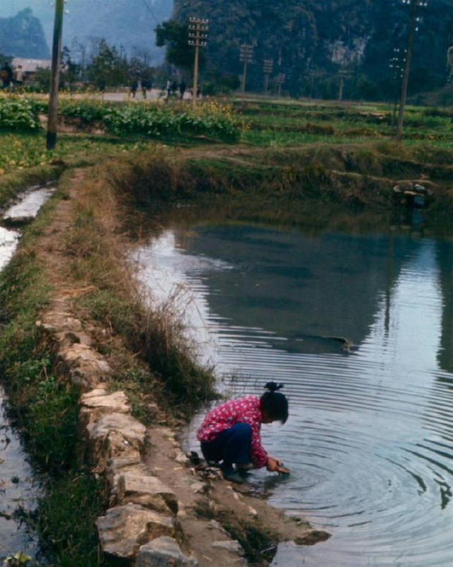
<instances>
[{"instance_id":1,"label":"large dark hill reflection in the middle of the pond","mask_svg":"<svg viewBox=\"0 0 453 567\"><path fill-rule=\"evenodd\" d=\"M289 339L288 350L338 351L338 343L309 336L348 337L360 344L374 322L379 300L398 278L416 241L382 235L325 234L258 226L205 228L188 251L215 257L235 269L209 274L210 308ZM391 262L389 262L391 250ZM391 281L389 281L389 278ZM302 339L302 342L298 339Z\"/></svg>"}]
</instances>

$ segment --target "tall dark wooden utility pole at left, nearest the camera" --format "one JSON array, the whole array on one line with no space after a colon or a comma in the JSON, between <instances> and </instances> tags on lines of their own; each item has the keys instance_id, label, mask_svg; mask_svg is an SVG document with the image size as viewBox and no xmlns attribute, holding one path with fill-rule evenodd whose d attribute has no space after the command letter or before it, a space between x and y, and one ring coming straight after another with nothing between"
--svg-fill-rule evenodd
<instances>
[{"instance_id":1,"label":"tall dark wooden utility pole at left, nearest the camera","mask_svg":"<svg viewBox=\"0 0 453 567\"><path fill-rule=\"evenodd\" d=\"M64 0L55 0L54 39L52 44L52 76L50 77L49 114L47 118L46 148L57 144L59 66L62 59Z\"/></svg>"}]
</instances>

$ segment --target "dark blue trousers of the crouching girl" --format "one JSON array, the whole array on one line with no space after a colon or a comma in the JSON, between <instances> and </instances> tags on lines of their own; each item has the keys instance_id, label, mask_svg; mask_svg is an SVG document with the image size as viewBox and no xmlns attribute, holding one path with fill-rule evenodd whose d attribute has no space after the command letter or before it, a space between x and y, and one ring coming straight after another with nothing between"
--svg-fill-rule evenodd
<instances>
[{"instance_id":1,"label":"dark blue trousers of the crouching girl","mask_svg":"<svg viewBox=\"0 0 453 567\"><path fill-rule=\"evenodd\" d=\"M252 428L248 423L236 423L212 441L202 441L201 450L207 461L223 461L224 467L251 462Z\"/></svg>"}]
</instances>

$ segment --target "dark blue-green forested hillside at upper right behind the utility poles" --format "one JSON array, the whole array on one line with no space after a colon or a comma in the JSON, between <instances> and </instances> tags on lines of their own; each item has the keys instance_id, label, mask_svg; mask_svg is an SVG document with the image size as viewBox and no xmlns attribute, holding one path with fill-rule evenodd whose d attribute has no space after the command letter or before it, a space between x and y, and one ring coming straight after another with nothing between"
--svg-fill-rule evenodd
<instances>
[{"instance_id":1,"label":"dark blue-green forested hillside at upper right behind the utility poles","mask_svg":"<svg viewBox=\"0 0 453 567\"><path fill-rule=\"evenodd\" d=\"M445 84L453 0L430 0L419 14L412 94ZM406 47L409 9L402 0L175 0L173 16L209 18L206 52L217 69L240 74L241 43L256 45L249 74L256 89L263 88L263 60L270 58L294 93L335 96L341 69L346 95L391 98L389 59Z\"/></svg>"}]
</instances>

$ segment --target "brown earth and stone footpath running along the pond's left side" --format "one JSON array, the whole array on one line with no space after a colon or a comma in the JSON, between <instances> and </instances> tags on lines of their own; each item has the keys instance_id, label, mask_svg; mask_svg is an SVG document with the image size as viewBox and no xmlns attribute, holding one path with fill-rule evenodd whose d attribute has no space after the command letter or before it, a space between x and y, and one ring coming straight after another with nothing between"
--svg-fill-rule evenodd
<instances>
[{"instance_id":1,"label":"brown earth and stone footpath running along the pond's left side","mask_svg":"<svg viewBox=\"0 0 453 567\"><path fill-rule=\"evenodd\" d=\"M82 392L79 460L103 479L108 495L97 522L105 562L144 567L196 560L204 567L239 566L246 558L266 564L280 541L326 539L326 532L287 518L241 486L200 477L176 440L182 422L168 405L156 404L166 397L164 386L128 390L128 365L147 362L140 361L142 345L131 350L115 321L93 317L84 306L84 299L105 291L104 279L117 293L136 291L134 283L123 285L133 279L122 230L124 195L117 199L101 170L72 172L35 251L53 290L36 325L52 344L58 380ZM94 225L86 230L88 217Z\"/></svg>"}]
</instances>

